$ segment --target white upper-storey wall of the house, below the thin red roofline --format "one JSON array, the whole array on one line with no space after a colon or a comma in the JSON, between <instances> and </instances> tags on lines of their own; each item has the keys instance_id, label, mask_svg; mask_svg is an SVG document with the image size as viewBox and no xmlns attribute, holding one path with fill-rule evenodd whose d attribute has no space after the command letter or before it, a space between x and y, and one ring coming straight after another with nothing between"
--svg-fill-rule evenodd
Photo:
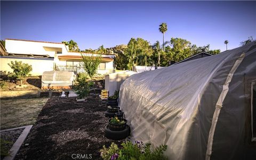
<instances>
[{"instance_id":1,"label":"white upper-storey wall of the house, below the thin red roofline","mask_svg":"<svg viewBox=\"0 0 256 160\"><path fill-rule=\"evenodd\" d=\"M65 44L17 41L12 39L5 39L5 49L9 53L48 54L50 57L54 57L55 52L68 53Z\"/></svg>"}]
</instances>

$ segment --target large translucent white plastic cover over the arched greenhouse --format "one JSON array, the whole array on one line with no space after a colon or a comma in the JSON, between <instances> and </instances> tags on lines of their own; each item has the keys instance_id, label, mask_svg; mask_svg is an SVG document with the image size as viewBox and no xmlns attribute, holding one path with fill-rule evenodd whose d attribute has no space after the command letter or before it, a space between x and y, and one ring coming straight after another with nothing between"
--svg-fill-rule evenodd
<instances>
[{"instance_id":1,"label":"large translucent white plastic cover over the arched greenhouse","mask_svg":"<svg viewBox=\"0 0 256 160\"><path fill-rule=\"evenodd\" d=\"M133 140L166 144L169 159L254 159L251 82L256 42L134 74L120 89Z\"/></svg>"}]
</instances>

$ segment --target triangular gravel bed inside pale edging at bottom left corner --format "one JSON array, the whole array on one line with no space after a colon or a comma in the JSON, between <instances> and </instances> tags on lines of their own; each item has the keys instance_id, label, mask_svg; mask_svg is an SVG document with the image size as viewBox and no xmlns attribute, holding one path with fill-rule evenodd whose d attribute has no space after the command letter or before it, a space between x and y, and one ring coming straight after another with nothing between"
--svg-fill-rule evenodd
<instances>
[{"instance_id":1,"label":"triangular gravel bed inside pale edging at bottom left corner","mask_svg":"<svg viewBox=\"0 0 256 160\"><path fill-rule=\"evenodd\" d=\"M1 132L1 139L8 141L8 143L4 144L4 147L6 147L8 150L10 150L12 148L12 145L19 138L19 136L23 130L24 129L18 129L18 130ZM3 159L3 157L1 157L1 159Z\"/></svg>"}]
</instances>

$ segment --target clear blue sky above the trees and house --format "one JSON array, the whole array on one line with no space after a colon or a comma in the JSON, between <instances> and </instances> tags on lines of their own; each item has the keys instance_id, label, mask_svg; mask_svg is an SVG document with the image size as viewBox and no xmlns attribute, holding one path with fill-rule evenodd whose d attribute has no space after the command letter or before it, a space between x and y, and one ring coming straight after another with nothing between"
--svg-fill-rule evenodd
<instances>
[{"instance_id":1,"label":"clear blue sky above the trees and house","mask_svg":"<svg viewBox=\"0 0 256 160\"><path fill-rule=\"evenodd\" d=\"M1 1L1 39L61 42L73 39L81 50L127 44L141 37L162 42L185 38L210 49L234 49L256 39L256 1Z\"/></svg>"}]
</instances>

